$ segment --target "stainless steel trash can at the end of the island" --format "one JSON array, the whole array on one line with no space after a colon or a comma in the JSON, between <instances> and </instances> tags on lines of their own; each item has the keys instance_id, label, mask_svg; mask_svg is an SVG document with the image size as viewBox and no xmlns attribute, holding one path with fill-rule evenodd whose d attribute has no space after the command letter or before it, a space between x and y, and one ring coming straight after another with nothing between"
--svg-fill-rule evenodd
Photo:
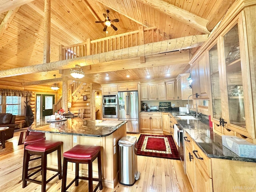
<instances>
[{"instance_id":1,"label":"stainless steel trash can at the end of the island","mask_svg":"<svg viewBox=\"0 0 256 192\"><path fill-rule=\"evenodd\" d=\"M122 137L119 146L119 182L132 186L139 179L137 165L137 138L134 136Z\"/></svg>"}]
</instances>

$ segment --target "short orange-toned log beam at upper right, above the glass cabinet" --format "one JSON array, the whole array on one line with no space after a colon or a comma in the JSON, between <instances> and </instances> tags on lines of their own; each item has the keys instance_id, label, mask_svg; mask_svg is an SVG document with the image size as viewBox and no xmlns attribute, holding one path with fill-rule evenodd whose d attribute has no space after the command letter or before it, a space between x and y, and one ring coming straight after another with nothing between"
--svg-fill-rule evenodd
<instances>
[{"instance_id":1,"label":"short orange-toned log beam at upper right, above the glass cabinet","mask_svg":"<svg viewBox=\"0 0 256 192\"><path fill-rule=\"evenodd\" d=\"M221 3L222 6L220 6L220 8L214 14L214 17L212 17L206 25L209 31L212 31L212 29L216 26L216 24L218 24L218 22L222 20L227 10L234 3L234 1L235 0L222 0L222 3Z\"/></svg>"}]
</instances>

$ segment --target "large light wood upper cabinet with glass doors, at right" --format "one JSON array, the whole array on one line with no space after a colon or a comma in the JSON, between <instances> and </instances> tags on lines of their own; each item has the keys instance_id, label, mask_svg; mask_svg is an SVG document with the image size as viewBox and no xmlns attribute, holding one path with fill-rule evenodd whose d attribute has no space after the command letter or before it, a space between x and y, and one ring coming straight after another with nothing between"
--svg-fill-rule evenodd
<instances>
[{"instance_id":1,"label":"large light wood upper cabinet with glass doors, at right","mask_svg":"<svg viewBox=\"0 0 256 192\"><path fill-rule=\"evenodd\" d=\"M254 144L256 144L256 102L254 102L256 35L253 32L256 28L255 12L254 1L236 1L214 34L209 36L190 60L191 64L195 64L202 58L202 65L206 63L210 69L209 112L212 122L222 126L222 128L215 126L214 132L225 134L224 129L232 130L235 135L249 138ZM206 62L203 62L204 55ZM191 69L193 74L196 68ZM200 74L198 76L200 77ZM200 84L202 81L200 79ZM192 89L194 89L193 85ZM193 93L195 95L194 90Z\"/></svg>"}]
</instances>

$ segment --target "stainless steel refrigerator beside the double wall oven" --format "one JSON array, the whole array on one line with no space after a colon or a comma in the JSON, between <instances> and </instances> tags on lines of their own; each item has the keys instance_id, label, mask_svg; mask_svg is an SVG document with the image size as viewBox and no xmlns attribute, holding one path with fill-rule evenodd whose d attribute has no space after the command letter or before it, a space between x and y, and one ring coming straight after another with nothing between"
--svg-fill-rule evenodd
<instances>
[{"instance_id":1,"label":"stainless steel refrigerator beside the double wall oven","mask_svg":"<svg viewBox=\"0 0 256 192\"><path fill-rule=\"evenodd\" d=\"M138 91L118 92L118 120L127 121L127 132L140 132Z\"/></svg>"}]
</instances>

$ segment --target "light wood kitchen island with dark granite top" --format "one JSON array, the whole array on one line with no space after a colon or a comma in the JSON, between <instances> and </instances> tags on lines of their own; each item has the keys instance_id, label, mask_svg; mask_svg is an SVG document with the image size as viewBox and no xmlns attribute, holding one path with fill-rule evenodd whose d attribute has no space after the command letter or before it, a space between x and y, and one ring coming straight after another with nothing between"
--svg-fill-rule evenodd
<instances>
[{"instance_id":1,"label":"light wood kitchen island with dark granite top","mask_svg":"<svg viewBox=\"0 0 256 192\"><path fill-rule=\"evenodd\" d=\"M62 153L76 144L98 145L101 148L102 181L108 188L118 184L118 141L126 136L126 121L84 120L78 117L51 122L50 116L32 124L30 131L45 132L47 140L62 141ZM48 165L57 167L57 153L49 155ZM97 161L93 176L98 176ZM68 164L68 177L74 178L75 165ZM71 175L72 174L72 175ZM88 176L86 164L80 165L80 174Z\"/></svg>"}]
</instances>

